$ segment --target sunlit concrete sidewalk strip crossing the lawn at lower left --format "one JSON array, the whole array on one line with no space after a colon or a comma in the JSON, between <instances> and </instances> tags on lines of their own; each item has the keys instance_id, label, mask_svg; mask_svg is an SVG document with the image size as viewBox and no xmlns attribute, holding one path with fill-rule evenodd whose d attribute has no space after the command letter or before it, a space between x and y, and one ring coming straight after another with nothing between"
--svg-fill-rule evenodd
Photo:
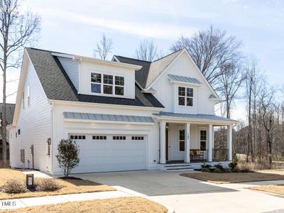
<instances>
[{"instance_id":1,"label":"sunlit concrete sidewalk strip crossing the lawn at lower left","mask_svg":"<svg viewBox=\"0 0 284 213\"><path fill-rule=\"evenodd\" d=\"M71 195L54 195L45 197L29 197L20 199L0 200L0 209L18 209L23 207L33 207L44 204L58 204L62 202L82 201L82 200L95 200L107 199L115 197L128 197L131 196L126 192L119 190L112 192L92 192L80 193Z\"/></svg>"}]
</instances>

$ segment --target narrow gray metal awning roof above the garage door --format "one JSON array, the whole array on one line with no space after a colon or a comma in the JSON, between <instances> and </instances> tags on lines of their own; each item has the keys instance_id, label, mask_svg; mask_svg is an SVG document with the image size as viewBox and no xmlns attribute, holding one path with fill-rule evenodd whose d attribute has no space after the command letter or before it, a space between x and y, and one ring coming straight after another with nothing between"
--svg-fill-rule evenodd
<instances>
[{"instance_id":1,"label":"narrow gray metal awning roof above the garage door","mask_svg":"<svg viewBox=\"0 0 284 213\"><path fill-rule=\"evenodd\" d=\"M150 116L128 116L128 115L117 115L117 114L91 114L91 113L70 112L70 111L64 111L63 116L64 116L65 119L154 123L153 118L150 117Z\"/></svg>"}]
</instances>

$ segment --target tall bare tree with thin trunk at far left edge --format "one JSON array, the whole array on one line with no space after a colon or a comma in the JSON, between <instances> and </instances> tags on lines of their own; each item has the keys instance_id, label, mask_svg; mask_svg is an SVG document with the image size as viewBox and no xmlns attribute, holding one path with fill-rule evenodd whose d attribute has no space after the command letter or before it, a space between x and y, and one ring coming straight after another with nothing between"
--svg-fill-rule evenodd
<instances>
[{"instance_id":1,"label":"tall bare tree with thin trunk at far left edge","mask_svg":"<svg viewBox=\"0 0 284 213\"><path fill-rule=\"evenodd\" d=\"M40 17L30 11L22 14L18 0L1 0L0 3L0 67L3 71L2 148L3 164L6 166L6 72L21 65L24 45L31 45L38 38Z\"/></svg>"}]
</instances>

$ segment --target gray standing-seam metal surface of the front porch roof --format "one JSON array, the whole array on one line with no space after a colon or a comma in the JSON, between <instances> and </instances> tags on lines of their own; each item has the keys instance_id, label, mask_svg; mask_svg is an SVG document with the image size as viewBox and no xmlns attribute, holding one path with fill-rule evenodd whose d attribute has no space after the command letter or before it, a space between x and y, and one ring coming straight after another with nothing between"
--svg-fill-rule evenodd
<instances>
[{"instance_id":1,"label":"gray standing-seam metal surface of the front porch roof","mask_svg":"<svg viewBox=\"0 0 284 213\"><path fill-rule=\"evenodd\" d=\"M212 121L234 121L237 122L234 119L228 119L222 116L216 116L211 114L179 114L179 113L173 113L173 112L166 112L161 111L160 114L153 114L155 116L160 117L173 117L173 118L180 118L180 119L200 119L200 120L212 120Z\"/></svg>"}]
</instances>

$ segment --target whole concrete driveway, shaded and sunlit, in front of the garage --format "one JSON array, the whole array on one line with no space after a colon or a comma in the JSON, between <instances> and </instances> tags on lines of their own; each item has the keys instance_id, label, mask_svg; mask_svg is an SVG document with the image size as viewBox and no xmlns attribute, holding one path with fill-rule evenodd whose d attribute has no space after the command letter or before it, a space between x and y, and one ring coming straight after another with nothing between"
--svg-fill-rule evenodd
<instances>
[{"instance_id":1,"label":"whole concrete driveway, shaded and sunlit, in front of the garage","mask_svg":"<svg viewBox=\"0 0 284 213\"><path fill-rule=\"evenodd\" d=\"M284 180L215 185L185 178L177 172L133 171L78 174L78 178L115 186L178 212L284 212L284 198L247 189L284 184Z\"/></svg>"}]
</instances>

